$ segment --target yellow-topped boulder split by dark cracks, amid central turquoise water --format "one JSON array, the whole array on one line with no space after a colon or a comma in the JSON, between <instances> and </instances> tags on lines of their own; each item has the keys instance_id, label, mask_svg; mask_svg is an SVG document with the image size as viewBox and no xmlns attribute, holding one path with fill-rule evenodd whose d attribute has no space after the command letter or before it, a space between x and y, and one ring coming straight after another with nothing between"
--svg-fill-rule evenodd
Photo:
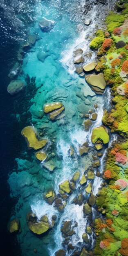
<instances>
[{"instance_id":1,"label":"yellow-topped boulder split by dark cracks, amid central turquoise water","mask_svg":"<svg viewBox=\"0 0 128 256\"><path fill-rule=\"evenodd\" d=\"M64 110L65 107L63 106L63 103L60 101L53 102L53 103L47 103L43 106L45 114L49 115L49 118L54 121L61 119L65 116Z\"/></svg>"}]
</instances>

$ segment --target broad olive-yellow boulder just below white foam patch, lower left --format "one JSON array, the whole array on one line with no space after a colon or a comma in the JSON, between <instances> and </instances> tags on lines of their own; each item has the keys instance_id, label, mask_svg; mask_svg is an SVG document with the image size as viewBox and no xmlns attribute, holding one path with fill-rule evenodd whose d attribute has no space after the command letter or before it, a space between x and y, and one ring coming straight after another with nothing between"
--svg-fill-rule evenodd
<instances>
[{"instance_id":1,"label":"broad olive-yellow boulder just below white foam patch, lower left","mask_svg":"<svg viewBox=\"0 0 128 256\"><path fill-rule=\"evenodd\" d=\"M28 227L34 234L41 235L49 229L49 223L43 221L36 223L29 222Z\"/></svg>"}]
</instances>

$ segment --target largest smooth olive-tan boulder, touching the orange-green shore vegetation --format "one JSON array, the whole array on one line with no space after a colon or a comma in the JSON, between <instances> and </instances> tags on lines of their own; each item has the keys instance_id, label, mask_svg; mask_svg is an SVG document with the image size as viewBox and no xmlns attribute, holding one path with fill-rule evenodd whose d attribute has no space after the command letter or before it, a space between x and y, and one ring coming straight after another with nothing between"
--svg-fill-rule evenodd
<instances>
[{"instance_id":1,"label":"largest smooth olive-tan boulder, touching the orange-green shore vegetation","mask_svg":"<svg viewBox=\"0 0 128 256\"><path fill-rule=\"evenodd\" d=\"M107 85L103 73L87 75L85 76L85 80L96 94L103 94Z\"/></svg>"}]
</instances>

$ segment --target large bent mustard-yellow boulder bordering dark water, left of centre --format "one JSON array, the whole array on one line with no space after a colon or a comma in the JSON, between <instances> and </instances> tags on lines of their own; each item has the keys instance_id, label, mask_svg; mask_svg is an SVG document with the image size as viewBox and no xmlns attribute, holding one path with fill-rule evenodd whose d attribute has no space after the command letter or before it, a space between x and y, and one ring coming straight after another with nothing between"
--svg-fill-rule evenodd
<instances>
[{"instance_id":1,"label":"large bent mustard-yellow boulder bordering dark water, left of centre","mask_svg":"<svg viewBox=\"0 0 128 256\"><path fill-rule=\"evenodd\" d=\"M47 139L38 140L38 132L33 126L23 128L21 134L25 137L29 148L43 148L48 142Z\"/></svg>"}]
</instances>

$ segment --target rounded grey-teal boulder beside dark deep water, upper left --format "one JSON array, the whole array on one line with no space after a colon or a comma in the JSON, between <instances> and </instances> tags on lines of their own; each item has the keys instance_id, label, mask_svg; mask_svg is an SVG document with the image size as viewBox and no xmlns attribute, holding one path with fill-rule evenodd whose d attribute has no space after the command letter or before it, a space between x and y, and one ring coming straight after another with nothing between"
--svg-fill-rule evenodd
<instances>
[{"instance_id":1,"label":"rounded grey-teal boulder beside dark deep water, upper left","mask_svg":"<svg viewBox=\"0 0 128 256\"><path fill-rule=\"evenodd\" d=\"M26 86L25 83L22 82L21 80L12 80L7 87L7 91L11 95L14 95L20 92L21 90L23 90L25 86Z\"/></svg>"}]
</instances>

